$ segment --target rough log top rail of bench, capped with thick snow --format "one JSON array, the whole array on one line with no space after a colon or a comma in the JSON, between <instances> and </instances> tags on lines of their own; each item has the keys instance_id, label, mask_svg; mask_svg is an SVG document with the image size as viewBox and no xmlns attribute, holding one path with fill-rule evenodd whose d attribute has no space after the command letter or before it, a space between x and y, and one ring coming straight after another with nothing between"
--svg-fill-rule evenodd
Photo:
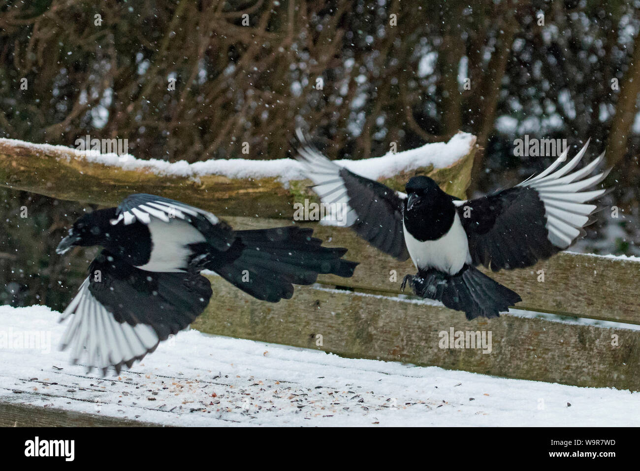
<instances>
[{"instance_id":1,"label":"rough log top rail of bench, capped with thick snow","mask_svg":"<svg viewBox=\"0 0 640 471\"><path fill-rule=\"evenodd\" d=\"M459 133L447 143L339 163L395 190L413 174L426 174L449 194L465 197L476 150L475 136ZM0 185L105 206L132 193L150 193L218 215L290 219L294 202L317 199L300 170L292 159L170 163L0 139Z\"/></svg>"}]
</instances>

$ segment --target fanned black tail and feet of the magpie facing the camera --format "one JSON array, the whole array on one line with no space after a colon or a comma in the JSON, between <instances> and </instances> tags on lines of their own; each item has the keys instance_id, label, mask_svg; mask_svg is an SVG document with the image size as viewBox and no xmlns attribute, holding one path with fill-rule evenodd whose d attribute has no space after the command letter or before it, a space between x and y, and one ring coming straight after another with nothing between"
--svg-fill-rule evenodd
<instances>
[{"instance_id":1,"label":"fanned black tail and feet of the magpie facing the camera","mask_svg":"<svg viewBox=\"0 0 640 471\"><path fill-rule=\"evenodd\" d=\"M403 289L407 281L417 295L465 311L468 319L498 317L500 312L522 301L518 293L469 265L453 276L435 269L419 270L417 275L404 277Z\"/></svg>"}]
</instances>

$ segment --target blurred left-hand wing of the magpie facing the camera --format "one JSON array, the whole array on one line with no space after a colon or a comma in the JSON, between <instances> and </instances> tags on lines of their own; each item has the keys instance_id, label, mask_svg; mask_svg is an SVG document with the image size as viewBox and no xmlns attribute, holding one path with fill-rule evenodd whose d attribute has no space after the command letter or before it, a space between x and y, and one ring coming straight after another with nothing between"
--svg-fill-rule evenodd
<instances>
[{"instance_id":1,"label":"blurred left-hand wing of the magpie facing the camera","mask_svg":"<svg viewBox=\"0 0 640 471\"><path fill-rule=\"evenodd\" d=\"M301 143L298 160L329 211L324 220L351 227L376 249L398 260L409 258L402 215L406 195L340 167L308 144L300 129L296 133Z\"/></svg>"}]
</instances>

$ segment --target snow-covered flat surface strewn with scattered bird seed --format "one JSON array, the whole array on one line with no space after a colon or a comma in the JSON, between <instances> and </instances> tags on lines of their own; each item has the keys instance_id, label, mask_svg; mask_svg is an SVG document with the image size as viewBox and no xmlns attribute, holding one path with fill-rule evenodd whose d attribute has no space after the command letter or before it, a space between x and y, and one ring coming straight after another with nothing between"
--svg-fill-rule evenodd
<instances>
[{"instance_id":1,"label":"snow-covered flat surface strewn with scattered bird seed","mask_svg":"<svg viewBox=\"0 0 640 471\"><path fill-rule=\"evenodd\" d=\"M0 401L179 426L640 426L639 393L340 358L198 331L100 378L57 350L58 316L41 306L0 306ZM36 348L20 345L36 331L44 332Z\"/></svg>"}]
</instances>

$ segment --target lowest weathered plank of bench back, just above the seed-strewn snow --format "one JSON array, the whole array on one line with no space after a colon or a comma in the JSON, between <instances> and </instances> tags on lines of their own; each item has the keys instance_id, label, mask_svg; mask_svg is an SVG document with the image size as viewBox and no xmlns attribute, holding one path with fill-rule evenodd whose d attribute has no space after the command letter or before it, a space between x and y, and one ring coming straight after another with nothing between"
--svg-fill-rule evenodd
<instances>
[{"instance_id":1,"label":"lowest weathered plank of bench back, just above the seed-strewn snow","mask_svg":"<svg viewBox=\"0 0 640 471\"><path fill-rule=\"evenodd\" d=\"M640 332L504 315L467 321L456 311L388 297L298 287L291 300L256 301L220 277L193 326L203 332L322 349L353 358L640 390ZM492 351L442 349L441 331L490 331ZM323 345L318 346L318 336ZM617 337L612 337L616 335ZM612 345L617 338L618 345Z\"/></svg>"}]
</instances>

